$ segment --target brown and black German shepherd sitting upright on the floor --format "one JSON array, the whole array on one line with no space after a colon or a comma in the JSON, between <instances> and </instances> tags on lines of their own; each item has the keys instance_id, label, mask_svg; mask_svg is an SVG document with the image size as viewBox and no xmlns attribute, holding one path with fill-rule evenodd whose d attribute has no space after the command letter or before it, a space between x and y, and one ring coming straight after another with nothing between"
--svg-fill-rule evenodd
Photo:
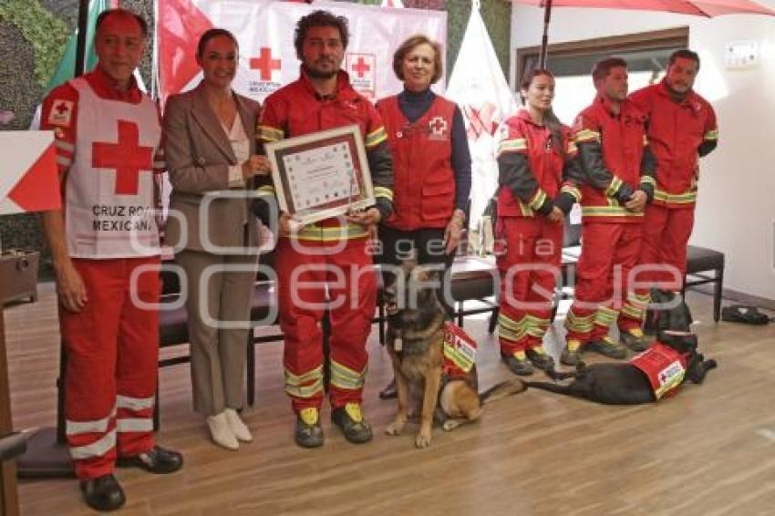
<instances>
[{"instance_id":1,"label":"brown and black German shepherd sitting upright on the floor","mask_svg":"<svg viewBox=\"0 0 775 516\"><path fill-rule=\"evenodd\" d=\"M513 379L479 394L475 364L461 377L443 374L446 311L439 301L438 285L438 273L406 262L383 291L386 346L398 391L398 413L386 433L399 435L410 408L414 410L419 402L418 448L430 445L434 420L445 430L457 428L480 418L484 403L526 388Z\"/></svg>"}]
</instances>

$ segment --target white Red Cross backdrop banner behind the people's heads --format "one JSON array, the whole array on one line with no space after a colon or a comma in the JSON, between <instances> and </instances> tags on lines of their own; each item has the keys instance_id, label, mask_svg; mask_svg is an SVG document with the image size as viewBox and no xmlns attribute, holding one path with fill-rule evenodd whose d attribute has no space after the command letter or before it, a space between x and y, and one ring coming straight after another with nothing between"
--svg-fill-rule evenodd
<instances>
[{"instance_id":1,"label":"white Red Cross backdrop banner behind the people's heads","mask_svg":"<svg viewBox=\"0 0 775 516\"><path fill-rule=\"evenodd\" d=\"M159 0L157 59L162 103L171 94L195 87L201 77L196 44L212 27L233 32L240 44L240 64L233 88L263 101L277 88L299 77L294 49L296 21L316 9L346 16L350 42L342 67L353 86L367 98L398 93L393 53L408 36L424 34L447 42L447 13L421 9L393 9L343 2L312 5L271 0ZM443 57L442 57L443 62ZM443 77L434 87L443 93Z\"/></svg>"}]
</instances>

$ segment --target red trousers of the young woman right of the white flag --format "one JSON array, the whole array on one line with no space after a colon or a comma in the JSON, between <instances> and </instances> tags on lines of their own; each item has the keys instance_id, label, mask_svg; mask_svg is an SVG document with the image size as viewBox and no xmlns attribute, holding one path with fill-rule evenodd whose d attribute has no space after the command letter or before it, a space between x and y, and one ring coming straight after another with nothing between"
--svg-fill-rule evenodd
<instances>
[{"instance_id":1,"label":"red trousers of the young woman right of the white flag","mask_svg":"<svg viewBox=\"0 0 775 516\"><path fill-rule=\"evenodd\" d=\"M563 224L544 217L501 217L495 229L501 296L498 341L511 355L541 346L560 274Z\"/></svg>"}]
</instances>

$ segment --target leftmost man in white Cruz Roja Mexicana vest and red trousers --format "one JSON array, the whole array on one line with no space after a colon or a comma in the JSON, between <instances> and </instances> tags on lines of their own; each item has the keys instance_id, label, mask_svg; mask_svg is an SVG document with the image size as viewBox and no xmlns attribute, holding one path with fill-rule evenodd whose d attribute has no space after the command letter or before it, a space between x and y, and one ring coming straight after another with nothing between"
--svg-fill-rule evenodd
<instances>
[{"instance_id":1,"label":"leftmost man in white Cruz Roja Mexicana vest and red trousers","mask_svg":"<svg viewBox=\"0 0 775 516\"><path fill-rule=\"evenodd\" d=\"M117 462L153 473L182 466L181 454L155 446L152 434L160 294L153 171L163 164L158 109L132 76L147 32L130 11L102 13L97 68L55 88L41 124L55 132L64 187L64 212L45 213L43 223L67 349L67 444L86 502L100 511L124 504Z\"/></svg>"}]
</instances>

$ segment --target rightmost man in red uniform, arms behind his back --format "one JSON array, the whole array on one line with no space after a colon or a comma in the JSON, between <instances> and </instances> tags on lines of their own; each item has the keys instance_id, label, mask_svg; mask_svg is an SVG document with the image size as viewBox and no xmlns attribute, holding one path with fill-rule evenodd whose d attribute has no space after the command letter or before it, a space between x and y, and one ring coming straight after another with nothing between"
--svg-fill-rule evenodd
<instances>
[{"instance_id":1,"label":"rightmost man in red uniform, arms behind his back","mask_svg":"<svg viewBox=\"0 0 775 516\"><path fill-rule=\"evenodd\" d=\"M697 159L716 149L716 113L694 92L699 56L691 50L673 52L659 84L630 96L647 118L647 137L657 162L654 201L646 208L639 263L646 270L639 281L650 281L679 291L687 272L687 243L694 226L697 200ZM635 293L619 315L622 341L635 350L647 346L641 324L649 296Z\"/></svg>"}]
</instances>

